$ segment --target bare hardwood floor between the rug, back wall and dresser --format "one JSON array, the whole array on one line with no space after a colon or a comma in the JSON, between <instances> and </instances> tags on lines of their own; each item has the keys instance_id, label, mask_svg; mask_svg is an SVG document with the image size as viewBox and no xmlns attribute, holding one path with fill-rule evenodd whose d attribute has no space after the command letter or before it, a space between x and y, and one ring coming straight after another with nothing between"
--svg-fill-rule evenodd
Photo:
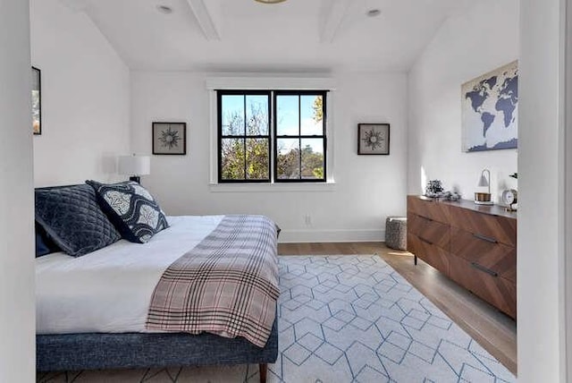
<instances>
[{"instance_id":1,"label":"bare hardwood floor between the rug, back wall and dresser","mask_svg":"<svg viewBox=\"0 0 572 383\"><path fill-rule=\"evenodd\" d=\"M517 322L407 251L384 243L280 243L280 255L378 254L486 351L517 374Z\"/></svg>"}]
</instances>

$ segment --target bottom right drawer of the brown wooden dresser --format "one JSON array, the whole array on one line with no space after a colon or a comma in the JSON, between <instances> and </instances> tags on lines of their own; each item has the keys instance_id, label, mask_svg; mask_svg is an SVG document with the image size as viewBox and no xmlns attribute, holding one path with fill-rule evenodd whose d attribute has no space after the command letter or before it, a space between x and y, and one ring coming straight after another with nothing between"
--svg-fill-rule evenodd
<instances>
[{"instance_id":1,"label":"bottom right drawer of the brown wooden dresser","mask_svg":"<svg viewBox=\"0 0 572 383\"><path fill-rule=\"evenodd\" d=\"M495 276L492 270L476 262L460 257L451 257L450 278L472 291L500 311L517 318L517 284L503 277Z\"/></svg>"}]
</instances>

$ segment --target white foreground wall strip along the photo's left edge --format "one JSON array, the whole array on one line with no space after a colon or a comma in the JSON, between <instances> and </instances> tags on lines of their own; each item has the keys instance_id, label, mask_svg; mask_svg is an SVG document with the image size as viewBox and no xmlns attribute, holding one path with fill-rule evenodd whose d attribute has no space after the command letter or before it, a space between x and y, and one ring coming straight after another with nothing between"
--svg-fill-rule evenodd
<instances>
[{"instance_id":1,"label":"white foreground wall strip along the photo's left edge","mask_svg":"<svg viewBox=\"0 0 572 383\"><path fill-rule=\"evenodd\" d=\"M0 5L0 381L36 371L29 6Z\"/></svg>"}]
</instances>

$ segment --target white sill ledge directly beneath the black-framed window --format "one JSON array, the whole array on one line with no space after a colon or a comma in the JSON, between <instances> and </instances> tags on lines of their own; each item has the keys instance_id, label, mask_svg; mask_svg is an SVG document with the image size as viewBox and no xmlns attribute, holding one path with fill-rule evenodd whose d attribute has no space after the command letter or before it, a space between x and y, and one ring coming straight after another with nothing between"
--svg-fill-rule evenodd
<instances>
[{"instance_id":1,"label":"white sill ledge directly beneath the black-framed window","mask_svg":"<svg viewBox=\"0 0 572 383\"><path fill-rule=\"evenodd\" d=\"M213 192L334 191L336 183L210 183Z\"/></svg>"}]
</instances>

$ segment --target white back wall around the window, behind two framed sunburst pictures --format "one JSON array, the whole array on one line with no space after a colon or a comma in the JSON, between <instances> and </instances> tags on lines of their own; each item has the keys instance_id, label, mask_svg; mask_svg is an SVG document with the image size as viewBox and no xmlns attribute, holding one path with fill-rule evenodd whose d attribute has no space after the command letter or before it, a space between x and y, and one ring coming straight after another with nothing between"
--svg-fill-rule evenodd
<instances>
[{"instance_id":1,"label":"white back wall around the window, behind two framed sunburst pictures","mask_svg":"<svg viewBox=\"0 0 572 383\"><path fill-rule=\"evenodd\" d=\"M407 182L407 77L341 74L329 110L332 191L220 192L209 186L206 73L132 72L132 149L151 153L151 123L188 123L188 155L154 156L142 182L170 215L253 213L282 226L282 241L381 240L385 217L404 215ZM391 123L390 156L357 156L357 123ZM309 214L312 225L306 226Z\"/></svg>"}]
</instances>

